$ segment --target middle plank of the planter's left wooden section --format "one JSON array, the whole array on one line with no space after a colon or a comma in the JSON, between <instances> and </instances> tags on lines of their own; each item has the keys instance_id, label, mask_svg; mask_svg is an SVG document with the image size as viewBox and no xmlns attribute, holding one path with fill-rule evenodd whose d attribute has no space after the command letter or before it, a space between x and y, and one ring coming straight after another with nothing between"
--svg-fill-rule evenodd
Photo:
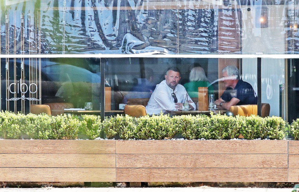
<instances>
[{"instance_id":1,"label":"middle plank of the planter's left wooden section","mask_svg":"<svg viewBox=\"0 0 299 192\"><path fill-rule=\"evenodd\" d=\"M115 154L0 154L0 167L115 168Z\"/></svg>"}]
</instances>

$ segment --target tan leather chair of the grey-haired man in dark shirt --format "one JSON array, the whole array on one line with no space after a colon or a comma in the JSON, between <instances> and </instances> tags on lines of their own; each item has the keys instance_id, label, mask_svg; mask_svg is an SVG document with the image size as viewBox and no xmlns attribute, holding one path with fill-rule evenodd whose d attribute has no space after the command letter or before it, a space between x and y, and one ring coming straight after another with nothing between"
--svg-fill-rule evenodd
<instances>
[{"instance_id":1,"label":"tan leather chair of the grey-haired man in dark shirt","mask_svg":"<svg viewBox=\"0 0 299 192\"><path fill-rule=\"evenodd\" d=\"M229 111L235 115L250 116L258 114L258 105L233 105ZM262 103L261 117L268 117L270 114L269 103Z\"/></svg>"}]
</instances>

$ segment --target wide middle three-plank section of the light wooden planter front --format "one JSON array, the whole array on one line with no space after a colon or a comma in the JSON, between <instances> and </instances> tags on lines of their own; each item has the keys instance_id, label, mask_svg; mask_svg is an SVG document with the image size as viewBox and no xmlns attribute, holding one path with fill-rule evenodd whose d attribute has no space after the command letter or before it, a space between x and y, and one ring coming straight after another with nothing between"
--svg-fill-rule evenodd
<instances>
[{"instance_id":1,"label":"wide middle three-plank section of the light wooden planter front","mask_svg":"<svg viewBox=\"0 0 299 192\"><path fill-rule=\"evenodd\" d=\"M287 140L116 141L117 182L286 182Z\"/></svg>"}]
</instances>

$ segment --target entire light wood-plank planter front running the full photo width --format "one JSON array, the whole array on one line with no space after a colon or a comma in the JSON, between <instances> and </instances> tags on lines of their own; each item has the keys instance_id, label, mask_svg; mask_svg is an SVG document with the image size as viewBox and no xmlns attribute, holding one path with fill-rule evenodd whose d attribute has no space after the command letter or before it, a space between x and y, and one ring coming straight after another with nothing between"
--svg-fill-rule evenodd
<instances>
[{"instance_id":1,"label":"entire light wood-plank planter front running the full photo width","mask_svg":"<svg viewBox=\"0 0 299 192\"><path fill-rule=\"evenodd\" d=\"M0 140L0 180L298 182L298 159L287 140Z\"/></svg>"}]
</instances>

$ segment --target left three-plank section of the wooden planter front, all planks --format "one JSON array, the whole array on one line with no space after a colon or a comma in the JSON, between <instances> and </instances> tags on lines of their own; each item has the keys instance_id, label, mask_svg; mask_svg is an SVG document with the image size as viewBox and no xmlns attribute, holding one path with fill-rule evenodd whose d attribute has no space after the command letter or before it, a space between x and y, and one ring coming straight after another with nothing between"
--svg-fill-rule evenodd
<instances>
[{"instance_id":1,"label":"left three-plank section of the wooden planter front, all planks","mask_svg":"<svg viewBox=\"0 0 299 192\"><path fill-rule=\"evenodd\" d=\"M115 182L113 140L0 140L0 180Z\"/></svg>"}]
</instances>

